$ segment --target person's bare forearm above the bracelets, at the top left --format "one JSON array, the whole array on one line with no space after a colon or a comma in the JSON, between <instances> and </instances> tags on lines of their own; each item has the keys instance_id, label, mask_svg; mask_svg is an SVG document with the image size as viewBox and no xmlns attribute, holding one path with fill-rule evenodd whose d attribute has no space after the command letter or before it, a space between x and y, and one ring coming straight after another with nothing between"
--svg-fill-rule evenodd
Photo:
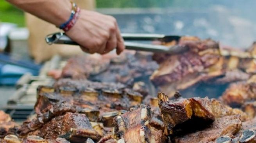
<instances>
[{"instance_id":1,"label":"person's bare forearm above the bracelets, at the top left","mask_svg":"<svg viewBox=\"0 0 256 143\"><path fill-rule=\"evenodd\" d=\"M7 0L16 7L29 12L56 26L68 20L72 5L69 0Z\"/></svg>"}]
</instances>

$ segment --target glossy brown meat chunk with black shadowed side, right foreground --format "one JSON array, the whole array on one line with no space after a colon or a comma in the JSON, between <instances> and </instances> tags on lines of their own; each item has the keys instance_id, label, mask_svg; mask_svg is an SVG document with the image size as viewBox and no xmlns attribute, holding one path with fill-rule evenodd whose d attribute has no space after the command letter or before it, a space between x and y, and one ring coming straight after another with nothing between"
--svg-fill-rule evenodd
<instances>
[{"instance_id":1,"label":"glossy brown meat chunk with black shadowed side, right foreground","mask_svg":"<svg viewBox=\"0 0 256 143\"><path fill-rule=\"evenodd\" d=\"M215 99L178 98L169 100L168 96L162 92L158 93L158 103L166 135L191 133L208 127L216 118L243 113L234 111Z\"/></svg>"}]
</instances>

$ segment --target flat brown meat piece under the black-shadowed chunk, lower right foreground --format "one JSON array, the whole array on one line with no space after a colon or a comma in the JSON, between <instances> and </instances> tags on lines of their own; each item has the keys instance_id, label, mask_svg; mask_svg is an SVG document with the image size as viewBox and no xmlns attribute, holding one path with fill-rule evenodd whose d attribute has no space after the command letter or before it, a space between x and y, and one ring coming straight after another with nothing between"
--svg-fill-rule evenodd
<instances>
[{"instance_id":1,"label":"flat brown meat piece under the black-shadowed chunk, lower right foreground","mask_svg":"<svg viewBox=\"0 0 256 143\"><path fill-rule=\"evenodd\" d=\"M225 116L215 119L207 129L176 137L175 143L211 143L221 136L233 136L242 127L239 115Z\"/></svg>"}]
</instances>

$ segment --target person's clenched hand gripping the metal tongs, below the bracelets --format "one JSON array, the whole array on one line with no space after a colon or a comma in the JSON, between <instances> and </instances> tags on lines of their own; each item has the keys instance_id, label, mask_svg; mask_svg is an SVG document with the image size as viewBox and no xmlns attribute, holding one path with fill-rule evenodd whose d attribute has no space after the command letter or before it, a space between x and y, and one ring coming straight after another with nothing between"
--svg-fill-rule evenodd
<instances>
[{"instance_id":1,"label":"person's clenched hand gripping the metal tongs, below the bracelets","mask_svg":"<svg viewBox=\"0 0 256 143\"><path fill-rule=\"evenodd\" d=\"M82 51L106 54L116 48L116 54L125 49L116 19L89 10L81 10L75 25L66 32Z\"/></svg>"}]
</instances>

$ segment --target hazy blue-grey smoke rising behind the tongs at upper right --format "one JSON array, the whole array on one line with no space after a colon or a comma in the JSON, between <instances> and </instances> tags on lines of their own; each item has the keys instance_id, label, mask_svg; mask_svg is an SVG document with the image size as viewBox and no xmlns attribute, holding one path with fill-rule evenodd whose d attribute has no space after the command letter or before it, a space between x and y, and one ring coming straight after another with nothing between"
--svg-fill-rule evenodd
<instances>
[{"instance_id":1,"label":"hazy blue-grey smoke rising behind the tongs at upper right","mask_svg":"<svg viewBox=\"0 0 256 143\"><path fill-rule=\"evenodd\" d=\"M235 48L247 48L256 40L256 0L110 1L109 7L158 9L125 18L116 14L118 22L127 24L123 32L193 35Z\"/></svg>"}]
</instances>

